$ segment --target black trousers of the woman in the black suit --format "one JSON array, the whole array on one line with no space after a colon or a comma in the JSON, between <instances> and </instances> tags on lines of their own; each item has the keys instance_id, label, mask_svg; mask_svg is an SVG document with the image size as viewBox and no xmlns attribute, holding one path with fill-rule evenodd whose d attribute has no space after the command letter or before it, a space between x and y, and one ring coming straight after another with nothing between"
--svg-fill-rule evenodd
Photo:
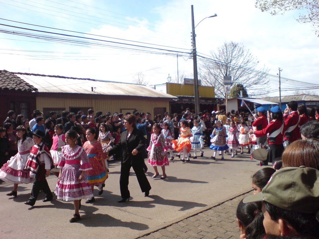
<instances>
[{"instance_id":1,"label":"black trousers of the woman in the black suit","mask_svg":"<svg viewBox=\"0 0 319 239\"><path fill-rule=\"evenodd\" d=\"M141 191L147 192L147 191L150 191L152 188L143 171L143 164L138 164L138 165L122 164L121 175L120 175L120 190L121 190L122 198L130 197L129 176L130 176L131 167L133 167L133 170L137 177L137 181L138 181L138 184L140 185Z\"/></svg>"}]
</instances>

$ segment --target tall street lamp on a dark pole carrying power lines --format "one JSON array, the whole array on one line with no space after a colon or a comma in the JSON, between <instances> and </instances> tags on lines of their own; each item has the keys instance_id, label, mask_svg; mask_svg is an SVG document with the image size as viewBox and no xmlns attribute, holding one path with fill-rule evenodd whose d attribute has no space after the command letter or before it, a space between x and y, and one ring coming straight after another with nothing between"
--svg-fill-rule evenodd
<instances>
[{"instance_id":1,"label":"tall street lamp on a dark pole carrying power lines","mask_svg":"<svg viewBox=\"0 0 319 239\"><path fill-rule=\"evenodd\" d=\"M194 24L194 9L193 5L191 5L191 13L192 13L192 54L193 54L193 70L194 70L194 98L195 98L195 113L198 115L199 113L199 90L198 90L198 75L197 75L197 52L196 52L196 41L195 41L195 28L200 24L204 19L206 18L213 18L217 17L217 14L215 13L214 15L210 17L206 17L203 20L201 20L196 26Z\"/></svg>"}]
</instances>

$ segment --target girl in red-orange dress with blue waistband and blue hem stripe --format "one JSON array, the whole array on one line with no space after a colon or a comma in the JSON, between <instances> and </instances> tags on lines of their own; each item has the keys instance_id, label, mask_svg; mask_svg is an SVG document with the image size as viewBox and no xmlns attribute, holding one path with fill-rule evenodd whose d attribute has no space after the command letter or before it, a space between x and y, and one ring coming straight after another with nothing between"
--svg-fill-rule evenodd
<instances>
[{"instance_id":1,"label":"girl in red-orange dress with blue waistband and blue hem stripe","mask_svg":"<svg viewBox=\"0 0 319 239\"><path fill-rule=\"evenodd\" d=\"M103 185L108 178L108 171L105 165L106 155L103 152L101 143L95 139L95 135L95 129L88 128L86 130L86 139L88 141L83 145L92 167L91 170L85 171L85 176L91 185L92 193L94 186L99 186L100 184ZM93 197L86 200L85 203L92 203L94 201L95 199Z\"/></svg>"}]
</instances>

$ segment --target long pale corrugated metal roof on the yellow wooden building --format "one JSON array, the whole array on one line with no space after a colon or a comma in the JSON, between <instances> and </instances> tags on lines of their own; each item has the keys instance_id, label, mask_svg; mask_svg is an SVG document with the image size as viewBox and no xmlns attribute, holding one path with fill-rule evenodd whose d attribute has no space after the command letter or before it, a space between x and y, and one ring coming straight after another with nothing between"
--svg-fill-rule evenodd
<instances>
[{"instance_id":1,"label":"long pale corrugated metal roof on the yellow wooden building","mask_svg":"<svg viewBox=\"0 0 319 239\"><path fill-rule=\"evenodd\" d=\"M14 74L36 87L38 92L176 98L144 85L19 72Z\"/></svg>"}]
</instances>

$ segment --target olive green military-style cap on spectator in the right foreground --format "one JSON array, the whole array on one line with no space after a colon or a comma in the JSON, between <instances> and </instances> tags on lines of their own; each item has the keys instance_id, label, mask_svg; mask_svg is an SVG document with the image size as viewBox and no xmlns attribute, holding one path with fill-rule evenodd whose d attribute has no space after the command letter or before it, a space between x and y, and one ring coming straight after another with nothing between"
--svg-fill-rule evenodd
<instances>
[{"instance_id":1,"label":"olive green military-style cap on spectator in the right foreground","mask_svg":"<svg viewBox=\"0 0 319 239\"><path fill-rule=\"evenodd\" d=\"M287 167L276 171L263 190L244 203L266 201L282 209L316 214L319 211L319 170Z\"/></svg>"}]
</instances>

